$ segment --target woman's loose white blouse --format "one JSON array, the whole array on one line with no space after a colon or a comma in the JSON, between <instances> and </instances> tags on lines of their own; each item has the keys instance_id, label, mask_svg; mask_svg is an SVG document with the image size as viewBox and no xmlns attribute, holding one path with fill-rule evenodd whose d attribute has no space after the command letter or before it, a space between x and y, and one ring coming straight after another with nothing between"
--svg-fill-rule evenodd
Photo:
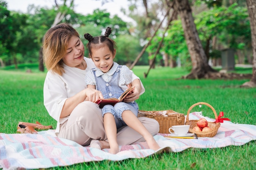
<instances>
[{"instance_id":1,"label":"woman's loose white blouse","mask_svg":"<svg viewBox=\"0 0 256 170\"><path fill-rule=\"evenodd\" d=\"M60 118L61 110L66 99L86 88L85 74L91 68L95 68L94 62L90 58L84 57L84 60L87 64L85 70L63 64L65 70L63 75L48 71L45 77L43 87L44 105L49 115L57 121L55 133L60 131L60 124L65 122L69 117ZM139 79L139 77L132 74L132 81L134 79ZM140 95L144 92L145 88L141 83Z\"/></svg>"}]
</instances>

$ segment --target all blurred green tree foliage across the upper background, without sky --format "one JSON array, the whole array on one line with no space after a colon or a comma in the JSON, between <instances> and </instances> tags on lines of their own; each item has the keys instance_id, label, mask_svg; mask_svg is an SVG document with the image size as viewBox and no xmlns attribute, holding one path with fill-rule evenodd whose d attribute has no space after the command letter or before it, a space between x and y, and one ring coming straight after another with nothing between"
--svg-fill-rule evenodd
<instances>
[{"instance_id":1,"label":"all blurred green tree foliage across the upper background, without sky","mask_svg":"<svg viewBox=\"0 0 256 170\"><path fill-rule=\"evenodd\" d=\"M83 38L84 33L90 33L92 36L103 35L106 27L110 26L113 29L110 38L118 41L119 44L118 55L120 56L117 57L117 60L120 63L130 64L140 52L141 44L145 44L141 42L147 41L145 37L152 34L153 27L159 24L159 12L164 13L167 7L166 2L162 0L150 2L148 17L145 18L145 13L141 13L139 7L140 2L129 0L130 3L133 3L129 7L129 15L137 22L135 28L130 23L121 20L117 15L110 16L110 13L106 10L96 9L92 14L84 16L74 12L73 4L67 6L67 2L71 1L62 0L60 2L63 4L59 5L58 9L56 7L47 8L30 5L28 12L22 14L7 10L6 2L0 0L0 58L5 65L14 64L15 62L37 62L43 36L52 26L55 16L60 11L65 13L61 22L72 24L81 35L81 40L85 45L88 42ZM190 0L189 2L197 6L202 5L202 3L211 6L211 9L196 13L194 16L203 48L209 51L207 57L220 57L220 49L216 46L221 49L245 50L251 48L249 19L243 0L236 1L239 5L236 3L230 5L226 3L227 0L223 0L222 6L218 5L220 0L204 0L204 2ZM227 4L226 7L223 4ZM158 30L157 37L153 39L146 53L137 64L148 64L148 59L153 58L162 38L162 29ZM125 35L128 39L126 40L122 35ZM217 37L217 44L208 43L213 41L214 36ZM162 60L163 53L168 54L168 57L173 60L180 60L182 66L185 66L188 70L191 69L191 59L180 20L171 23L160 52L157 54L157 62ZM149 57L148 54L150 54ZM88 56L87 49L85 49L85 56ZM126 58L126 56L129 58Z\"/></svg>"}]
</instances>

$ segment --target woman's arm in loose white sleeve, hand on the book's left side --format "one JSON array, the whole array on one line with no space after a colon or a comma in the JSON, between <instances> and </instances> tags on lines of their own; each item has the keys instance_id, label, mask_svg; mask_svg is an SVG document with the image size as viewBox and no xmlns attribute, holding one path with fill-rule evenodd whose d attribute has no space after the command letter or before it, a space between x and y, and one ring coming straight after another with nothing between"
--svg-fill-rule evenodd
<instances>
[{"instance_id":1,"label":"woman's arm in loose white sleeve, hand on the book's left side","mask_svg":"<svg viewBox=\"0 0 256 170\"><path fill-rule=\"evenodd\" d=\"M70 76L67 80L63 76L48 71L43 87L44 105L49 115L56 121L63 123L71 114L72 110L81 102L88 98L99 99L103 97L101 92L95 89L87 89L84 79L79 79L79 75ZM76 82L76 83L74 83Z\"/></svg>"}]
</instances>

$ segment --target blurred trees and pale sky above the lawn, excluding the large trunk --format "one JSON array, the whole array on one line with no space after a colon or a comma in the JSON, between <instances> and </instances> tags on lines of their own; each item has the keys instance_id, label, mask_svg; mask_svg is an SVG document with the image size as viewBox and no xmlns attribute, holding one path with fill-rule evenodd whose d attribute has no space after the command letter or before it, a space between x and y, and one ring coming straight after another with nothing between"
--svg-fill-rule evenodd
<instances>
[{"instance_id":1,"label":"blurred trees and pale sky above the lawn, excluding the large trunk","mask_svg":"<svg viewBox=\"0 0 256 170\"><path fill-rule=\"evenodd\" d=\"M187 0L210 66L252 64L245 0ZM81 35L117 42L116 62L192 69L180 15L173 0L0 0L0 66L31 63L45 71L41 46L46 31L67 22ZM170 22L171 21L171 22ZM159 46L160 44L160 46ZM88 51L85 49L85 56Z\"/></svg>"}]
</instances>

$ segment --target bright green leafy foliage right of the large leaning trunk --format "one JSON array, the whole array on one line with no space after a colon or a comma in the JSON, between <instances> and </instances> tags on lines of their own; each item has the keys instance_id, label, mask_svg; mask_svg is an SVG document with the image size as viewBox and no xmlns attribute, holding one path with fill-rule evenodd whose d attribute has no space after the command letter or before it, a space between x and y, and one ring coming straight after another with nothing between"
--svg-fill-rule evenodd
<instances>
[{"instance_id":1,"label":"bright green leafy foliage right of the large leaning trunk","mask_svg":"<svg viewBox=\"0 0 256 170\"><path fill-rule=\"evenodd\" d=\"M222 48L238 49L238 44L251 40L247 8L236 3L203 11L195 16L195 24L202 42L217 36Z\"/></svg>"}]
</instances>

